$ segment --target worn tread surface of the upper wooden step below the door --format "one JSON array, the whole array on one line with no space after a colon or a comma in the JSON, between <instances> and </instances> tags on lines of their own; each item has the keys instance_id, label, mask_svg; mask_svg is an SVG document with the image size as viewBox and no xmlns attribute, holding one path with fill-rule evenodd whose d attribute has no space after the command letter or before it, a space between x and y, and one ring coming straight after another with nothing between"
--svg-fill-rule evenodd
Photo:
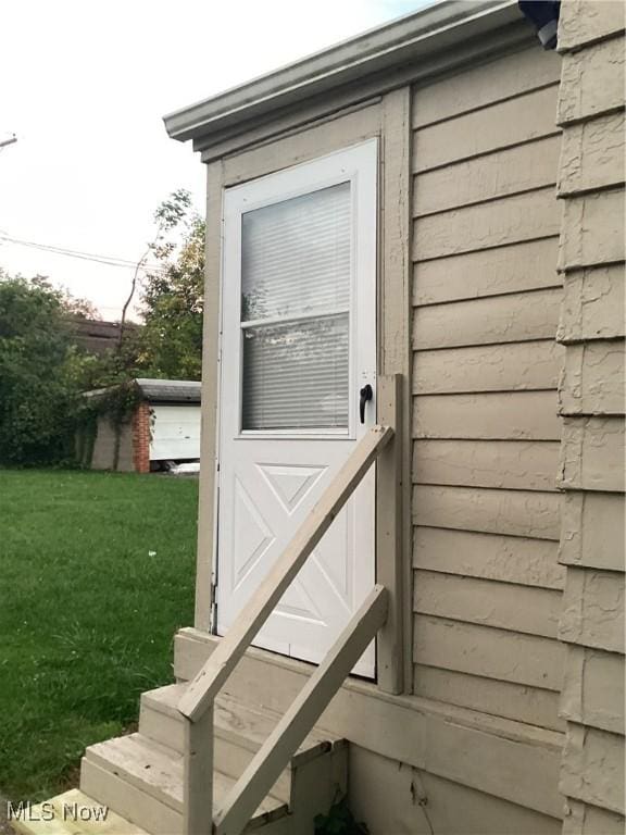
<instances>
[{"instance_id":1,"label":"worn tread surface of the upper wooden step below the door","mask_svg":"<svg viewBox=\"0 0 626 835\"><path fill-rule=\"evenodd\" d=\"M166 685L145 693L141 699L146 707L161 711L174 719L180 719L177 705L186 687L186 684ZM279 719L279 714L273 710L261 707L252 708L226 693L221 693L215 700L216 736L231 739L252 752L261 748ZM333 735L313 731L299 747L295 758L300 759L305 755L323 752L328 749L328 744L333 741L336 741Z\"/></svg>"}]
</instances>

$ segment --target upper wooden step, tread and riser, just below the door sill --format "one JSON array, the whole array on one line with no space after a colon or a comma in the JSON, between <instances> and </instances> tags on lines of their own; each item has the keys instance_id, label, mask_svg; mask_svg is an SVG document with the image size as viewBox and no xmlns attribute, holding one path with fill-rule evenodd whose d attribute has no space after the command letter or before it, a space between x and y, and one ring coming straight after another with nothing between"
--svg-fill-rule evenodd
<instances>
[{"instance_id":1,"label":"upper wooden step, tread and riser, just below the door sill","mask_svg":"<svg viewBox=\"0 0 626 835\"><path fill-rule=\"evenodd\" d=\"M143 736L179 753L183 752L183 718L177 705L185 687L185 684L173 684L145 693L139 718L139 731ZM214 712L215 768L231 777L242 774L278 720L279 715L274 711L251 708L233 696L220 694ZM288 802L291 768L326 753L333 741L327 735L309 734L272 787L272 794Z\"/></svg>"}]
</instances>

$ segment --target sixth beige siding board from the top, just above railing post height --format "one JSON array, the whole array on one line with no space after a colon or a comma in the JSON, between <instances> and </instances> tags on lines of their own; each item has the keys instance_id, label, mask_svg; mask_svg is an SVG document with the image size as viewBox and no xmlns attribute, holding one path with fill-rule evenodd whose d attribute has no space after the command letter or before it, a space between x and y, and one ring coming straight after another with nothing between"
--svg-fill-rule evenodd
<instances>
[{"instance_id":1,"label":"sixth beige siding board from the top, just above railing post height","mask_svg":"<svg viewBox=\"0 0 626 835\"><path fill-rule=\"evenodd\" d=\"M416 308L413 347L452 348L554 339L559 288Z\"/></svg>"}]
</instances>

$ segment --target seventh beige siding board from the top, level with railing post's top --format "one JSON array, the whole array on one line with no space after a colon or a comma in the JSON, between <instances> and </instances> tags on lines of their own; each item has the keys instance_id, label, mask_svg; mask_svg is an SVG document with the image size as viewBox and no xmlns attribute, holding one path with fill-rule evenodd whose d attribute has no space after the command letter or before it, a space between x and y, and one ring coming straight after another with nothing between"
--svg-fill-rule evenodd
<instances>
[{"instance_id":1,"label":"seventh beige siding board from the top, level with railing post's top","mask_svg":"<svg viewBox=\"0 0 626 835\"><path fill-rule=\"evenodd\" d=\"M565 360L552 339L418 350L413 354L416 395L556 388Z\"/></svg>"}]
</instances>

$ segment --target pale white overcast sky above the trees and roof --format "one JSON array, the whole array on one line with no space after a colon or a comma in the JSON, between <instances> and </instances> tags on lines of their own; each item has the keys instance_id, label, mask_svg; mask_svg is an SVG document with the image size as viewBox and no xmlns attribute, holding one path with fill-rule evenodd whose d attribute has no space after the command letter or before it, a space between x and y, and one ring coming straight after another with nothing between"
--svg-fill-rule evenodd
<instances>
[{"instance_id":1,"label":"pale white overcast sky above the trees and roof","mask_svg":"<svg viewBox=\"0 0 626 835\"><path fill-rule=\"evenodd\" d=\"M0 12L0 267L120 317L153 213L204 173L162 116L426 5L426 0L29 0ZM137 313L135 313L135 316Z\"/></svg>"}]
</instances>

